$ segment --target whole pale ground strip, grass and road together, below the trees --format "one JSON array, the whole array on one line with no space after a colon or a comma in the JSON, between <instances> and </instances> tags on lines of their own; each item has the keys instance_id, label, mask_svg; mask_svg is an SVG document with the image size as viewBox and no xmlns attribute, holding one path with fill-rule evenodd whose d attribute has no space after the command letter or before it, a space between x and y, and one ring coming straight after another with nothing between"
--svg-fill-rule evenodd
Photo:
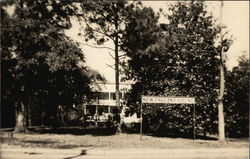
<instances>
[{"instance_id":1,"label":"whole pale ground strip, grass and road together, below the trees","mask_svg":"<svg viewBox=\"0 0 250 159\"><path fill-rule=\"evenodd\" d=\"M0 131L0 159L247 159L248 138L207 140L139 134L93 135Z\"/></svg>"}]
</instances>

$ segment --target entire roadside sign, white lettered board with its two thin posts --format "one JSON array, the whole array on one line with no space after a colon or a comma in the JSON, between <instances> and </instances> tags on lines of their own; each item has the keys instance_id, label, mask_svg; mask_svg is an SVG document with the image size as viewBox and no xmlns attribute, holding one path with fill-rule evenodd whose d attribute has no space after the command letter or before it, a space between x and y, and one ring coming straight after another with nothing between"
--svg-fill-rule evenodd
<instances>
[{"instance_id":1,"label":"entire roadside sign, white lettered board with its two thin posts","mask_svg":"<svg viewBox=\"0 0 250 159\"><path fill-rule=\"evenodd\" d=\"M194 104L193 108L193 126L195 139L195 98L193 97L162 97L162 96L142 96L141 98L141 125L140 125L140 140L142 140L142 106L143 103L164 103L164 104Z\"/></svg>"}]
</instances>

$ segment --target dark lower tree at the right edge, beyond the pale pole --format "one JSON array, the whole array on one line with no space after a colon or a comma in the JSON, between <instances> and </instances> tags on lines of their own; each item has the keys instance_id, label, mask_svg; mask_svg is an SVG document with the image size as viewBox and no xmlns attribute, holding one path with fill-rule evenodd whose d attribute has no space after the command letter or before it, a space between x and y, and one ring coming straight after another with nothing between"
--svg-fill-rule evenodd
<instances>
[{"instance_id":1,"label":"dark lower tree at the right edge, beyond the pale pole","mask_svg":"<svg viewBox=\"0 0 250 159\"><path fill-rule=\"evenodd\" d=\"M226 72L225 120L229 136L249 135L249 59L243 55L238 66Z\"/></svg>"}]
</instances>

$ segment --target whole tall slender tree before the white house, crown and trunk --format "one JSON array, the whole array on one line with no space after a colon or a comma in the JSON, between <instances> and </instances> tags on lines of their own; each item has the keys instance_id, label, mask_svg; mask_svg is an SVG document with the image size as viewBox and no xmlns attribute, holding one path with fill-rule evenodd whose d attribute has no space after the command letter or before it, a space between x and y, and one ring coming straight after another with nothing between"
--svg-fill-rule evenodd
<instances>
[{"instance_id":1,"label":"whole tall slender tree before the white house, crown and trunk","mask_svg":"<svg viewBox=\"0 0 250 159\"><path fill-rule=\"evenodd\" d=\"M104 44L108 40L114 43L115 52L115 85L116 85L116 106L120 108L119 97L119 50L121 40L123 39L124 26L129 15L129 11L133 9L135 2L128 3L125 0L118 1L84 1L81 3L85 22L85 38L86 41L94 39L98 45ZM140 5L140 3L136 3ZM117 133L121 132L121 123L118 125Z\"/></svg>"}]
</instances>

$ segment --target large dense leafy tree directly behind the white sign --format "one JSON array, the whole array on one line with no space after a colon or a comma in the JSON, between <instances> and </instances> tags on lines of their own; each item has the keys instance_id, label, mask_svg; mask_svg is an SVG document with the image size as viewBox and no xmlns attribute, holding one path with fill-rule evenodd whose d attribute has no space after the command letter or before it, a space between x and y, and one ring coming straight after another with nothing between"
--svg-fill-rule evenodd
<instances>
[{"instance_id":1,"label":"large dense leafy tree directly behind the white sign","mask_svg":"<svg viewBox=\"0 0 250 159\"><path fill-rule=\"evenodd\" d=\"M149 32L147 38L143 33L148 29L144 29L137 22L139 20L127 24L131 25L126 31L127 37L131 38L127 38L125 49L131 53L129 68L132 72L128 77L137 80L135 87L141 88L137 94L195 97L196 127L215 132L220 63L217 56L221 48L216 46L216 40L221 27L213 23L203 2L178 2L170 7L170 11L167 22L160 24L160 30L154 34ZM142 28L139 29L142 33L133 36L130 34L134 34L133 28ZM136 46L135 41L145 45ZM136 94L138 90L132 92ZM155 110L148 106L144 114ZM165 113L172 118L169 119L171 127L181 132L191 130L191 112L188 105L165 107Z\"/></svg>"}]
</instances>

